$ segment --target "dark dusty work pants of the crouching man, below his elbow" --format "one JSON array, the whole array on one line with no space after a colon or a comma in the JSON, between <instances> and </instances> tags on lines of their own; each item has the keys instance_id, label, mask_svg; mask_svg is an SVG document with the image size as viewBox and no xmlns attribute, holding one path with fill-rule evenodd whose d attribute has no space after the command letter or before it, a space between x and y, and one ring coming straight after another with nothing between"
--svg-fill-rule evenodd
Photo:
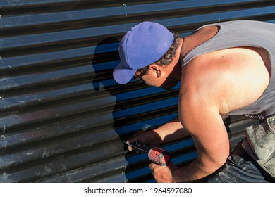
<instances>
[{"instance_id":1,"label":"dark dusty work pants of the crouching man, below his elbow","mask_svg":"<svg viewBox=\"0 0 275 197\"><path fill-rule=\"evenodd\" d=\"M275 182L243 149L242 142L228 157L226 164L209 176L210 183L259 183Z\"/></svg>"}]
</instances>

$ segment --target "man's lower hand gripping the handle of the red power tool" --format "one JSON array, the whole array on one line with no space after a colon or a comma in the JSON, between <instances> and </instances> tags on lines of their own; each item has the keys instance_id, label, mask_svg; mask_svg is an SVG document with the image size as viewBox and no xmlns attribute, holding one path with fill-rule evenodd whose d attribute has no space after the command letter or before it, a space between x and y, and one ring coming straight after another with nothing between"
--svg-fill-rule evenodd
<instances>
[{"instance_id":1,"label":"man's lower hand gripping the handle of the red power tool","mask_svg":"<svg viewBox=\"0 0 275 197\"><path fill-rule=\"evenodd\" d=\"M159 183L173 183L173 172L175 172L178 167L173 162L170 162L169 165L161 166L155 163L151 163L149 168L153 171L152 174L154 179Z\"/></svg>"}]
</instances>

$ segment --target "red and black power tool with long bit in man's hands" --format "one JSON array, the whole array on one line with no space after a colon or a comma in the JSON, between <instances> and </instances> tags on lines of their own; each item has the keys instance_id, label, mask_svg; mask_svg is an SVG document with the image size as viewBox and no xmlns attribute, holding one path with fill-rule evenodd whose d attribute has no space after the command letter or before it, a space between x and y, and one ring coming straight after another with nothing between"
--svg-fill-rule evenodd
<instances>
[{"instance_id":1,"label":"red and black power tool with long bit in man's hands","mask_svg":"<svg viewBox=\"0 0 275 197\"><path fill-rule=\"evenodd\" d=\"M133 144L128 144L127 142L123 141L124 144L131 146L135 149L138 149L140 151L143 151L145 153L148 153L148 158L149 160L151 160L153 163L156 163L158 165L164 166L164 165L168 165L169 161L170 161L170 155L169 153L164 150L161 149L159 147L154 147L151 148L149 151L147 151L146 149L140 148L138 146L135 146Z\"/></svg>"}]
</instances>

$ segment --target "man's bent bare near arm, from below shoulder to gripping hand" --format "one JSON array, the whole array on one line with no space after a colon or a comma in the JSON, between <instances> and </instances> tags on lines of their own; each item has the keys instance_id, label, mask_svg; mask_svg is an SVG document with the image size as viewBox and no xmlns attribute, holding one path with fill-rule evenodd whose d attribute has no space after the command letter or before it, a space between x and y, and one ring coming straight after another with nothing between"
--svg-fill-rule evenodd
<instances>
[{"instance_id":1,"label":"man's bent bare near arm, from below shoulder to gripping hand","mask_svg":"<svg viewBox=\"0 0 275 197\"><path fill-rule=\"evenodd\" d=\"M226 110L226 102L220 87L189 84L181 89L178 103L179 120L193 136L198 157L185 167L176 168L173 163L167 167L151 164L158 182L193 182L207 177L226 162L230 145L224 121L220 115ZM201 88L201 89L200 89Z\"/></svg>"}]
</instances>

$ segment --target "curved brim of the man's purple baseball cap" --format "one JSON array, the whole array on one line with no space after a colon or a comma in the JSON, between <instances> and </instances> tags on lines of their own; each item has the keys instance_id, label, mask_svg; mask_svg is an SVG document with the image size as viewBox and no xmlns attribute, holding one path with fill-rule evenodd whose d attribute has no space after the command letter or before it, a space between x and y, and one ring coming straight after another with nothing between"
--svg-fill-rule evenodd
<instances>
[{"instance_id":1,"label":"curved brim of the man's purple baseball cap","mask_svg":"<svg viewBox=\"0 0 275 197\"><path fill-rule=\"evenodd\" d=\"M123 63L116 66L113 71L113 77L118 84L127 84L135 75L136 69L126 68Z\"/></svg>"}]
</instances>

